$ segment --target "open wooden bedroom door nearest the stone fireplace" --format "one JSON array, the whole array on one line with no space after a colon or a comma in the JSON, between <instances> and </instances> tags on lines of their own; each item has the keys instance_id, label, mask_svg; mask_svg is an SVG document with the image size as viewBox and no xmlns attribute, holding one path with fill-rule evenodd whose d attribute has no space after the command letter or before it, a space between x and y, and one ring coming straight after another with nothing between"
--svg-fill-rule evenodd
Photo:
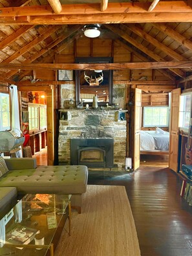
<instances>
[{"instance_id":1,"label":"open wooden bedroom door nearest the stone fireplace","mask_svg":"<svg viewBox=\"0 0 192 256\"><path fill-rule=\"evenodd\" d=\"M133 169L140 167L140 127L142 109L142 90L135 89L134 92L134 149L133 149Z\"/></svg>"}]
</instances>

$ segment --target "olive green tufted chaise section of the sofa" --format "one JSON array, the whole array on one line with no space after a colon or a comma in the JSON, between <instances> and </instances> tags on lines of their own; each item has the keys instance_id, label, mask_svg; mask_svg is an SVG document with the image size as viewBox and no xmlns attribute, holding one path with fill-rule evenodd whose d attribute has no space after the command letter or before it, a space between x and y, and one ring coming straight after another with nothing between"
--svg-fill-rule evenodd
<instances>
[{"instance_id":1,"label":"olive green tufted chaise section of the sofa","mask_svg":"<svg viewBox=\"0 0 192 256\"><path fill-rule=\"evenodd\" d=\"M88 169L84 165L36 165L35 158L5 159L8 172L0 187L16 187L27 193L72 194L72 206L81 211L81 194L87 189Z\"/></svg>"}]
</instances>

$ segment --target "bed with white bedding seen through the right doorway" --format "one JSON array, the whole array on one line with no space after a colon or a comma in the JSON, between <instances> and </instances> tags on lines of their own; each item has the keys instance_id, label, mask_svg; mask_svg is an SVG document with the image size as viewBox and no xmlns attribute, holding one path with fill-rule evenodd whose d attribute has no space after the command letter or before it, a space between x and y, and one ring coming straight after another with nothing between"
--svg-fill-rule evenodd
<instances>
[{"instance_id":1,"label":"bed with white bedding seen through the right doorway","mask_svg":"<svg viewBox=\"0 0 192 256\"><path fill-rule=\"evenodd\" d=\"M155 131L140 131L140 151L169 152L169 132L157 128Z\"/></svg>"}]
</instances>

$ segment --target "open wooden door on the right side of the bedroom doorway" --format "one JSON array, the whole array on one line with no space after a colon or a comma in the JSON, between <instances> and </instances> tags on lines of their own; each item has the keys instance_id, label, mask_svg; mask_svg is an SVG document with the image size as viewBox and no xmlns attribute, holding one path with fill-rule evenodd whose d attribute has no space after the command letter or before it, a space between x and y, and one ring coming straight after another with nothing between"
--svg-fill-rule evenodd
<instances>
[{"instance_id":1,"label":"open wooden door on the right side of the bedroom doorway","mask_svg":"<svg viewBox=\"0 0 192 256\"><path fill-rule=\"evenodd\" d=\"M169 144L169 168L178 171L178 118L181 89L171 92L171 123L170 123L170 144Z\"/></svg>"}]
</instances>

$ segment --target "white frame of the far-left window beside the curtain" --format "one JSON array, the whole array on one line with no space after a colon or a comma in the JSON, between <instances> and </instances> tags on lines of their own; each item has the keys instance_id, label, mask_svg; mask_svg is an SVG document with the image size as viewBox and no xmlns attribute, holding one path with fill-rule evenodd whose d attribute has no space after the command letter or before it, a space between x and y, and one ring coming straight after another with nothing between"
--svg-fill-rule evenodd
<instances>
[{"instance_id":1,"label":"white frame of the far-left window beside the curtain","mask_svg":"<svg viewBox=\"0 0 192 256\"><path fill-rule=\"evenodd\" d=\"M3 111L3 100L1 97L5 97L7 96L7 103L8 103L8 110L7 111ZM8 126L3 126L3 113L6 112L7 116L8 116ZM6 130L10 130L10 125L11 125L11 118L10 118L10 94L6 93L6 92L0 92L0 120L2 122L0 122L0 131L6 131Z\"/></svg>"}]
</instances>

